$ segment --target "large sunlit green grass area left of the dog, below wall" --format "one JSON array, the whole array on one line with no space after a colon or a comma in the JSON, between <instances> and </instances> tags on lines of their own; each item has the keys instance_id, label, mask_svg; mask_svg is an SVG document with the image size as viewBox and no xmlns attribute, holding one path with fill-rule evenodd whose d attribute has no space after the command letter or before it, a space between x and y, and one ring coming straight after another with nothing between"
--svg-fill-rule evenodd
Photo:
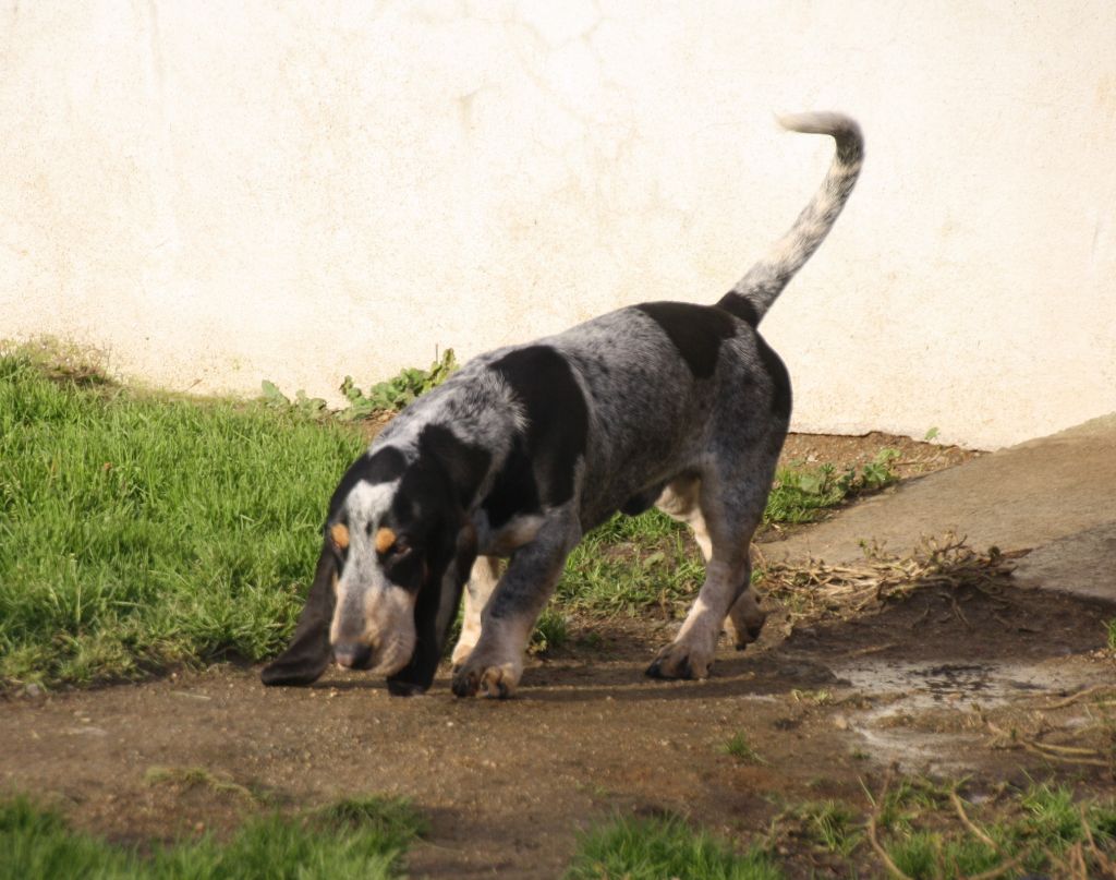
<instances>
[{"instance_id":1,"label":"large sunlit green grass area left of the dog, below wall","mask_svg":"<svg viewBox=\"0 0 1116 880\"><path fill-rule=\"evenodd\" d=\"M0 357L0 685L275 653L363 446L260 404Z\"/></svg>"}]
</instances>

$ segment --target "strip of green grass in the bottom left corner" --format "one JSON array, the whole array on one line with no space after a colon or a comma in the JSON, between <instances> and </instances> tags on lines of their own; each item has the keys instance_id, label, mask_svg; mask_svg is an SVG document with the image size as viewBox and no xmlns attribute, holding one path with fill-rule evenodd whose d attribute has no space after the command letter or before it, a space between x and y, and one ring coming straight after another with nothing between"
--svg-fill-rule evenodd
<instances>
[{"instance_id":1,"label":"strip of green grass in the bottom left corner","mask_svg":"<svg viewBox=\"0 0 1116 880\"><path fill-rule=\"evenodd\" d=\"M0 803L0 880L393 878L424 823L406 802L367 798L301 817L267 814L225 842L206 835L141 854L74 831L59 813L16 796Z\"/></svg>"}]
</instances>

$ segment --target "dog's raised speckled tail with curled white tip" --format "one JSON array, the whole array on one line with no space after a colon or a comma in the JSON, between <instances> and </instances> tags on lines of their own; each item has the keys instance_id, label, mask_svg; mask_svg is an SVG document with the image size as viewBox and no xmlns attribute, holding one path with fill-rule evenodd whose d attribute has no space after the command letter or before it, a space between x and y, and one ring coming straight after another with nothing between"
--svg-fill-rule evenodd
<instances>
[{"instance_id":1,"label":"dog's raised speckled tail with curled white tip","mask_svg":"<svg viewBox=\"0 0 1116 880\"><path fill-rule=\"evenodd\" d=\"M860 126L848 116L839 113L804 113L781 116L779 123L792 132L828 134L837 142L837 154L821 188L798 216L795 226L718 303L721 308L743 318L753 327L829 233L837 214L848 201L864 161Z\"/></svg>"}]
</instances>

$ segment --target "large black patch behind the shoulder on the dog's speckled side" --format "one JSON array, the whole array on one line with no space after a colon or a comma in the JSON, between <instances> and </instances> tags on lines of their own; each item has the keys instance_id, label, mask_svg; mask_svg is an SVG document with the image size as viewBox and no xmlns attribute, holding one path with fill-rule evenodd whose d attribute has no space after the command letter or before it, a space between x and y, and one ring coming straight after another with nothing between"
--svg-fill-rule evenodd
<instances>
[{"instance_id":1,"label":"large black patch behind the shoulder on the dog's speckled side","mask_svg":"<svg viewBox=\"0 0 1116 880\"><path fill-rule=\"evenodd\" d=\"M498 478L502 494L496 506L507 517L522 513L523 507L518 503L530 500L526 485L516 488L512 471L520 479L533 475L536 509L540 503L565 504L574 497L574 468L585 455L589 431L589 409L574 371L548 345L517 348L496 361L491 369L508 383L527 417L523 443L509 456Z\"/></svg>"}]
</instances>

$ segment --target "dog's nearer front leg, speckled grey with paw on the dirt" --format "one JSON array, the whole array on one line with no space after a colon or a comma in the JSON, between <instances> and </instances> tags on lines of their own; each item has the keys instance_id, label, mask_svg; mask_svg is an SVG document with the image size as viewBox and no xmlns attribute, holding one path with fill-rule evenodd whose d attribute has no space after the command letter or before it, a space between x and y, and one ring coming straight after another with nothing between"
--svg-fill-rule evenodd
<instances>
[{"instance_id":1,"label":"dog's nearer front leg, speckled grey with paw on the dirt","mask_svg":"<svg viewBox=\"0 0 1116 880\"><path fill-rule=\"evenodd\" d=\"M453 692L510 697L523 673L527 640L580 538L569 515L548 522L517 549L481 613L477 645L453 676Z\"/></svg>"}]
</instances>

